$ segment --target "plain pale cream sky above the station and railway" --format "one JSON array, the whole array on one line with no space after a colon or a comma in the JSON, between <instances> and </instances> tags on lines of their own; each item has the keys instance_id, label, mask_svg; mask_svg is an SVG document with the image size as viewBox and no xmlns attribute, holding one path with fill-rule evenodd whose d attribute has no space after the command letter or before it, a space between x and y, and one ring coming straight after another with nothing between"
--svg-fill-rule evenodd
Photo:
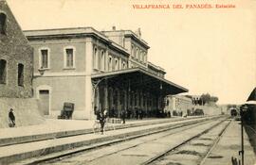
<instances>
[{"instance_id":1,"label":"plain pale cream sky above the station and railway","mask_svg":"<svg viewBox=\"0 0 256 165\"><path fill-rule=\"evenodd\" d=\"M92 26L141 29L148 60L166 79L243 104L256 87L256 0L7 0L23 30ZM213 8L186 8L209 4ZM233 5L235 8L214 8ZM134 8L169 5L170 8ZM182 5L183 8L173 8Z\"/></svg>"}]
</instances>

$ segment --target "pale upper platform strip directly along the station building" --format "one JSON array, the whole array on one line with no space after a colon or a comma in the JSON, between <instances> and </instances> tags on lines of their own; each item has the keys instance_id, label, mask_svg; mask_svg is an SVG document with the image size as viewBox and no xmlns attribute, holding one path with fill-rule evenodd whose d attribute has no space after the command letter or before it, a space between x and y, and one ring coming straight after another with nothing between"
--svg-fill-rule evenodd
<instances>
[{"instance_id":1,"label":"pale upper platform strip directly along the station building","mask_svg":"<svg viewBox=\"0 0 256 165\"><path fill-rule=\"evenodd\" d=\"M190 117L200 118L200 117ZM188 118L189 119L189 118ZM123 129L148 124L162 124L186 118L145 118L143 120L126 120L125 124L106 124L105 130ZM44 124L0 128L0 146L24 143L35 140L64 138L94 133L95 121L46 119Z\"/></svg>"}]
</instances>

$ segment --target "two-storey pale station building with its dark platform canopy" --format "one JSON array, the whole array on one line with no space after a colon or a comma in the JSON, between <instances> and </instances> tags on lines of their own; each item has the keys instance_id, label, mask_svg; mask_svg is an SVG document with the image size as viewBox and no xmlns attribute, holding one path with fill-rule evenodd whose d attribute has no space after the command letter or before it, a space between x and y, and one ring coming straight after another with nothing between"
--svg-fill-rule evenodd
<instances>
[{"instance_id":1,"label":"two-storey pale station building with its dark platform canopy","mask_svg":"<svg viewBox=\"0 0 256 165\"><path fill-rule=\"evenodd\" d=\"M187 89L164 78L149 62L140 30L97 31L92 27L24 31L34 48L35 97L45 115L57 117L64 102L75 104L74 119L94 119L94 109L136 110L155 116L168 94ZM43 74L38 70L44 71Z\"/></svg>"}]
</instances>

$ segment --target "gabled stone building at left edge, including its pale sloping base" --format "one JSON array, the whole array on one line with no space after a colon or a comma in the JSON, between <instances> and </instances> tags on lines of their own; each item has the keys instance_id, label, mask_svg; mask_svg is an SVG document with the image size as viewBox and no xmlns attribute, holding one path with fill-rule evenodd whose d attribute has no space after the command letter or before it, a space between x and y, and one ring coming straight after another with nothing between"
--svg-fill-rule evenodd
<instances>
[{"instance_id":1,"label":"gabled stone building at left edge, including its pale sloping base","mask_svg":"<svg viewBox=\"0 0 256 165\"><path fill-rule=\"evenodd\" d=\"M9 108L17 126L38 124L37 102L32 97L33 49L5 0L0 0L0 127L8 127Z\"/></svg>"}]
</instances>

